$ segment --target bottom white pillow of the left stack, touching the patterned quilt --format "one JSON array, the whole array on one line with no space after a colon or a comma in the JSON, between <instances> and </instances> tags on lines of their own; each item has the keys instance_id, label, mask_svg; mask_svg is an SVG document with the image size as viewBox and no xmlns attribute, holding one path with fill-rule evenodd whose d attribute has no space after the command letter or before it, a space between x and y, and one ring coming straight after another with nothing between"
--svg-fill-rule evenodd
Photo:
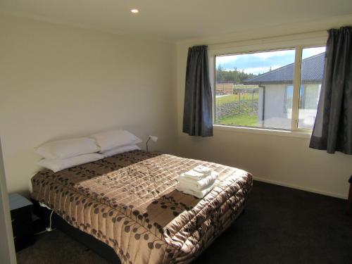
<instances>
[{"instance_id":1,"label":"bottom white pillow of the left stack, touching the patterned quilt","mask_svg":"<svg viewBox=\"0 0 352 264\"><path fill-rule=\"evenodd\" d=\"M89 163L92 161L98 161L104 158L103 155L99 153L90 153L90 154L84 154L80 156L75 156L71 158L57 158L54 160L51 160L49 158L43 158L38 162L38 165L47 168L49 170L52 170L54 172L58 172L60 170L65 170L67 168L75 167L77 165L81 165L84 163Z\"/></svg>"}]
</instances>

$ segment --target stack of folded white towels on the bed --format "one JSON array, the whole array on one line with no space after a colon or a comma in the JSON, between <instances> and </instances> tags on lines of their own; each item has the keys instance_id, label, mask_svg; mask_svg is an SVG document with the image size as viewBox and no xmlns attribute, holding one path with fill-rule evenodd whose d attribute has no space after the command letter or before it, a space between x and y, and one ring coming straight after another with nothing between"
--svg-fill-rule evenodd
<instances>
[{"instance_id":1,"label":"stack of folded white towels on the bed","mask_svg":"<svg viewBox=\"0 0 352 264\"><path fill-rule=\"evenodd\" d=\"M217 182L218 172L203 165L182 173L177 177L177 190L203 198L213 189Z\"/></svg>"}]
</instances>

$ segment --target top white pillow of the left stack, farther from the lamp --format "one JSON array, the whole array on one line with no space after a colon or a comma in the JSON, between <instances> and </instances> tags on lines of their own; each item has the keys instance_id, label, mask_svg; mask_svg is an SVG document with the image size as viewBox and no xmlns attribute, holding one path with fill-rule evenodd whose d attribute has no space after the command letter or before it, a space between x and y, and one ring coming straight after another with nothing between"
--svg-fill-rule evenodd
<instances>
[{"instance_id":1,"label":"top white pillow of the left stack, farther from the lamp","mask_svg":"<svg viewBox=\"0 0 352 264\"><path fill-rule=\"evenodd\" d=\"M64 139L56 142L48 142L34 149L35 153L43 158L70 158L82 154L100 151L94 139L80 137L77 139Z\"/></svg>"}]
</instances>

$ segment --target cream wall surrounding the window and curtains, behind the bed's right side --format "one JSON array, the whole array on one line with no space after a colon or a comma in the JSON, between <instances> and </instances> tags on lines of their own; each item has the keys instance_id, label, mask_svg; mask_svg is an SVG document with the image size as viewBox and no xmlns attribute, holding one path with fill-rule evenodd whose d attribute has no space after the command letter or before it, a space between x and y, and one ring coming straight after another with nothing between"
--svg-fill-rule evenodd
<instances>
[{"instance_id":1,"label":"cream wall surrounding the window and curtains, behind the bed's right side","mask_svg":"<svg viewBox=\"0 0 352 264\"><path fill-rule=\"evenodd\" d=\"M308 137L296 134L287 136L289 133L282 135L215 128L214 137L189 137L182 133L182 115L189 46L208 44L210 54L213 54L214 50L229 52L262 50L265 49L265 45L268 48L273 43L276 43L278 48L294 46L294 43L298 42L301 44L321 43L322 40L326 40L325 30L351 24L352 16L350 15L315 23L282 25L266 30L243 32L243 34L239 32L237 35L178 42L178 153L189 158L223 163L248 170L257 180L264 182L346 198L347 181L352 173L352 156L342 153L331 155L325 151L309 149Z\"/></svg>"}]
</instances>

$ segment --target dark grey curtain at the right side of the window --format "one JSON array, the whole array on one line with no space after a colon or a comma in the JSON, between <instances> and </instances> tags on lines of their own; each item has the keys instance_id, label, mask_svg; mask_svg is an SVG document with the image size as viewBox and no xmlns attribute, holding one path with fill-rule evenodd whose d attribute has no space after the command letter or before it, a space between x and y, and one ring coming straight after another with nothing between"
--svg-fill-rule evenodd
<instances>
[{"instance_id":1,"label":"dark grey curtain at the right side of the window","mask_svg":"<svg viewBox=\"0 0 352 264\"><path fill-rule=\"evenodd\" d=\"M328 30L325 71L310 148L352 154L352 27Z\"/></svg>"}]
</instances>

